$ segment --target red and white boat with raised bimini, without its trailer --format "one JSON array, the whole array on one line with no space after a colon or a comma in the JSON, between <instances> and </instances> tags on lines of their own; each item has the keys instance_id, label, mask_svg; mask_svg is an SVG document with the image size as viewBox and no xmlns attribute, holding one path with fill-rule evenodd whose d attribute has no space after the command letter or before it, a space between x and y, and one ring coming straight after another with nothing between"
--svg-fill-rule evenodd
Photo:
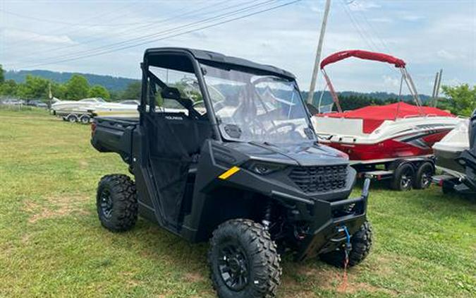
<instances>
[{"instance_id":1,"label":"red and white boat with raised bimini, without its trailer","mask_svg":"<svg viewBox=\"0 0 476 298\"><path fill-rule=\"evenodd\" d=\"M352 56L386 62L399 68L402 73L401 87L405 82L415 105L398 102L342 112L324 66ZM347 153L355 165L428 157L432 155L432 145L460 122L451 113L422 105L402 59L387 54L350 50L328 56L320 66L338 112L322 113L321 110L322 114L312 117L315 131L322 138L321 143Z\"/></svg>"}]
</instances>

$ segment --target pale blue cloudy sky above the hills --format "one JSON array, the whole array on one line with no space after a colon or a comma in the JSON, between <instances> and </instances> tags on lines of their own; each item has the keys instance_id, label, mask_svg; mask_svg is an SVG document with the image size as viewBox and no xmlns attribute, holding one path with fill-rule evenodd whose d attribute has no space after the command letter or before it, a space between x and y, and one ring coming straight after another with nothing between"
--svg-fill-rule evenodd
<instances>
[{"instance_id":1,"label":"pale blue cloudy sky above the hills","mask_svg":"<svg viewBox=\"0 0 476 298\"><path fill-rule=\"evenodd\" d=\"M146 48L192 47L284 68L308 90L323 15L324 0L0 0L0 64L140 78ZM440 68L443 85L476 85L476 0L332 0L322 58L344 49L405 60L423 94ZM400 84L398 69L372 61L327 73L341 91Z\"/></svg>"}]
</instances>

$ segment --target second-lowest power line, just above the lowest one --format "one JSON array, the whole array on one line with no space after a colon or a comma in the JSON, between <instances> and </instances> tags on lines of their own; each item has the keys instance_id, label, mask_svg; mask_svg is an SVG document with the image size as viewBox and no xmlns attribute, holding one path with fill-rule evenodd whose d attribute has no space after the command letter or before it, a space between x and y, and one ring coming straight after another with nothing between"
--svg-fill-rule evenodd
<instances>
[{"instance_id":1,"label":"second-lowest power line, just above the lowest one","mask_svg":"<svg viewBox=\"0 0 476 298\"><path fill-rule=\"evenodd\" d=\"M246 3L248 4L248 3L252 3L252 2L256 2L256 1L257 0L253 0L253 1L248 1ZM143 40L147 40L147 38L157 37L157 36L161 36L161 35L167 35L167 34L175 32L177 30L186 29L186 28L189 28L189 27L193 27L195 25L200 25L201 23L208 23L208 22L213 21L213 20L238 15L239 13L243 13L244 11L248 11L250 9L254 9L254 8L263 6L263 5L268 4L269 2L273 2L273 1L274 0L267 0L267 1L261 2L259 4L246 6L244 8L238 8L238 9L236 9L234 11L230 11L228 13L221 13L218 16L212 16L212 17L209 17L209 18L205 18L203 20L197 20L197 21L194 21L192 23L188 23L188 24L185 24L185 25L180 25L180 26L175 27L175 28L169 28L167 30L162 30L162 31L155 32L155 33L152 33L152 34L142 35L141 37L135 37L135 38L130 39L130 40L123 40L121 42L114 42L112 44L106 44L104 46L95 47L93 49L87 49L87 50L80 51L80 52L75 52L75 53L71 53L71 54L63 54L61 56L55 56L55 57L52 57L52 58L47 58L47 59L44 59L44 62L40 62L39 64L44 64L47 61L50 61L51 59L55 59L55 60L56 59L61 59L61 58L68 59L68 58L78 56L78 55L81 56L81 54L90 54L90 53L94 53L94 52L103 52L105 49L118 47L118 46L121 46L122 44L128 44L130 42L141 42ZM51 62L54 62L54 61L51 61ZM37 65L38 64L35 64L35 66L37 66Z\"/></svg>"}]
</instances>

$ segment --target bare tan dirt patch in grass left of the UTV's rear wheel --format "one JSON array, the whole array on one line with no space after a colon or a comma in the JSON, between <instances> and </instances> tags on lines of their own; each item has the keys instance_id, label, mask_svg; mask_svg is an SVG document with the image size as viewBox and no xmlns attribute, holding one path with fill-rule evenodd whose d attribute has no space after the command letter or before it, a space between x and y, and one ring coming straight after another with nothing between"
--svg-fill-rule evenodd
<instances>
[{"instance_id":1,"label":"bare tan dirt patch in grass left of the UTV's rear wheel","mask_svg":"<svg viewBox=\"0 0 476 298\"><path fill-rule=\"evenodd\" d=\"M28 222L35 223L53 217L63 217L66 215L87 215L89 212L82 208L88 198L85 196L50 196L44 201L25 201L24 210L30 213Z\"/></svg>"}]
</instances>

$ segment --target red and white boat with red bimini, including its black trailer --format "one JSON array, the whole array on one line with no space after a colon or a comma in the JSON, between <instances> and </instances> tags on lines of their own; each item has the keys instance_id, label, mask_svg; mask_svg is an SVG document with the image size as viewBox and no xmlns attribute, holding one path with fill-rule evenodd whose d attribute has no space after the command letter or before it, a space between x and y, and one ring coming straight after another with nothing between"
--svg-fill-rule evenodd
<instances>
[{"instance_id":1,"label":"red and white boat with red bimini, including its black trailer","mask_svg":"<svg viewBox=\"0 0 476 298\"><path fill-rule=\"evenodd\" d=\"M415 105L396 102L343 111L338 95L324 67L346 58L381 61L401 71ZM394 56L362 50L331 54L320 64L337 112L322 112L312 117L321 143L349 155L351 164L367 177L391 179L393 189L426 188L434 173L432 145L454 129L460 119L453 114L425 107L405 68L405 61Z\"/></svg>"}]
</instances>

